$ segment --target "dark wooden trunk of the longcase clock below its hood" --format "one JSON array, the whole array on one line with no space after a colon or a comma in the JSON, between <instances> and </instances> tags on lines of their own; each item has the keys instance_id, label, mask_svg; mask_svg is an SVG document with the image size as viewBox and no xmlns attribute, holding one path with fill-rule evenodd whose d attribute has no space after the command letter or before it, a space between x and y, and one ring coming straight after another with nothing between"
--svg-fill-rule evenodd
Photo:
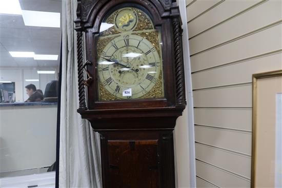
<instances>
[{"instance_id":1,"label":"dark wooden trunk of the longcase clock below its hood","mask_svg":"<svg viewBox=\"0 0 282 188\"><path fill-rule=\"evenodd\" d=\"M94 131L100 134L103 187L175 187L173 130L176 118L165 118L166 128L156 126L165 122L164 117L93 121ZM132 129L134 120L138 129ZM142 129L138 121L150 123ZM100 129L100 123L105 130ZM123 129L118 129L121 124Z\"/></svg>"}]
</instances>

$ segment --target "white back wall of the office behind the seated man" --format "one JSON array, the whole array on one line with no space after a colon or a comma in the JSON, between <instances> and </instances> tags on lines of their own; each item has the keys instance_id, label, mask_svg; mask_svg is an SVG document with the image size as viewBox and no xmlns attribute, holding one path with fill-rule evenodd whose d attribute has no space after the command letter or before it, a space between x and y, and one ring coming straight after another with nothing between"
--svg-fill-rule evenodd
<instances>
[{"instance_id":1,"label":"white back wall of the office behind the seated man","mask_svg":"<svg viewBox=\"0 0 282 188\"><path fill-rule=\"evenodd\" d=\"M16 102L23 102L28 99L25 86L32 83L36 89L45 91L47 83L51 80L57 80L57 68L20 68L20 67L0 67L0 80L15 82ZM37 70L55 71L55 74L37 74ZM26 81L26 79L39 79L39 81Z\"/></svg>"}]
</instances>

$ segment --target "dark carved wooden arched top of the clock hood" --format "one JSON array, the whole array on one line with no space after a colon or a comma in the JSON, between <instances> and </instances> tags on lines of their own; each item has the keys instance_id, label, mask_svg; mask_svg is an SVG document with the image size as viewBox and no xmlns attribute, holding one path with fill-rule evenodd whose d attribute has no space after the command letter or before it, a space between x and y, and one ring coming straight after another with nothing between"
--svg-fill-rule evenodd
<instances>
[{"instance_id":1,"label":"dark carved wooden arched top of the clock hood","mask_svg":"<svg viewBox=\"0 0 282 188\"><path fill-rule=\"evenodd\" d=\"M165 17L179 16L179 9L175 1L172 0L77 0L77 19L75 20L75 30L85 31L87 28L93 28L92 32L98 32L100 22L96 20L104 17L115 6L120 4L135 4L148 10L152 17L154 25L159 25Z\"/></svg>"}]
</instances>

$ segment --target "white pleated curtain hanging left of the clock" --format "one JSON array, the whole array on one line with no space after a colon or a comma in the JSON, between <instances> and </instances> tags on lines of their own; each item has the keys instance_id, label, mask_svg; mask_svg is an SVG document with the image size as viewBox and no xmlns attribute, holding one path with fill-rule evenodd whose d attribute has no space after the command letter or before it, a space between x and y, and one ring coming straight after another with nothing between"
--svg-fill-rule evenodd
<instances>
[{"instance_id":1,"label":"white pleated curtain hanging left of the clock","mask_svg":"<svg viewBox=\"0 0 282 188\"><path fill-rule=\"evenodd\" d=\"M76 1L62 1L62 92L59 187L102 187L99 136L76 112L77 50L74 20Z\"/></svg>"}]
</instances>

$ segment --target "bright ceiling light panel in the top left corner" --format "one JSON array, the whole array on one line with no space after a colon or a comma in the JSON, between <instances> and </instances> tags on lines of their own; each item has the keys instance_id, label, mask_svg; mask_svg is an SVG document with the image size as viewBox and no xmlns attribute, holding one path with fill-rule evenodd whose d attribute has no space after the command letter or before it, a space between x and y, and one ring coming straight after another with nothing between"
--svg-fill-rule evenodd
<instances>
[{"instance_id":1,"label":"bright ceiling light panel in the top left corner","mask_svg":"<svg viewBox=\"0 0 282 188\"><path fill-rule=\"evenodd\" d=\"M0 0L0 13L22 15L22 9L18 0Z\"/></svg>"}]
</instances>

